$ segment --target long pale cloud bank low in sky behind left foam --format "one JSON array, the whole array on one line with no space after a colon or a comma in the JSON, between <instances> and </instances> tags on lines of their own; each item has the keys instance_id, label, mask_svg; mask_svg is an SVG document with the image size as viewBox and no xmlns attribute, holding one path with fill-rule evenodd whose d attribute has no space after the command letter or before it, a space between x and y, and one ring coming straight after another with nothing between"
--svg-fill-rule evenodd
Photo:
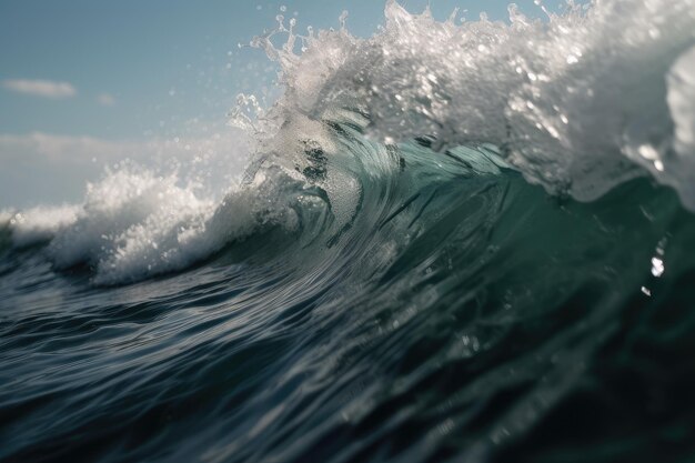
<instances>
[{"instance_id":1,"label":"long pale cloud bank low in sky behind left foam","mask_svg":"<svg viewBox=\"0 0 695 463\"><path fill-rule=\"evenodd\" d=\"M212 135L132 141L0 134L0 210L79 202L87 182L98 181L105 167L125 159L155 172L177 169L182 181L226 191L242 174L248 155L245 135L229 128Z\"/></svg>"}]
</instances>

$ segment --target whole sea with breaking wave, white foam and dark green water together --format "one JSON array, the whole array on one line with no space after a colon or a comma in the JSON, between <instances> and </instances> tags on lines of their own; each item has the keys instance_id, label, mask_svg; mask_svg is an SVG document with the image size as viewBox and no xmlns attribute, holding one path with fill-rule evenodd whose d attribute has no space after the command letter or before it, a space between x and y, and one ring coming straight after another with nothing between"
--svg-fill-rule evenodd
<instances>
[{"instance_id":1,"label":"whole sea with breaking wave, white foam and dark green water together","mask_svg":"<svg viewBox=\"0 0 695 463\"><path fill-rule=\"evenodd\" d=\"M695 4L510 12L281 19L239 185L1 213L0 460L691 459Z\"/></svg>"}]
</instances>

